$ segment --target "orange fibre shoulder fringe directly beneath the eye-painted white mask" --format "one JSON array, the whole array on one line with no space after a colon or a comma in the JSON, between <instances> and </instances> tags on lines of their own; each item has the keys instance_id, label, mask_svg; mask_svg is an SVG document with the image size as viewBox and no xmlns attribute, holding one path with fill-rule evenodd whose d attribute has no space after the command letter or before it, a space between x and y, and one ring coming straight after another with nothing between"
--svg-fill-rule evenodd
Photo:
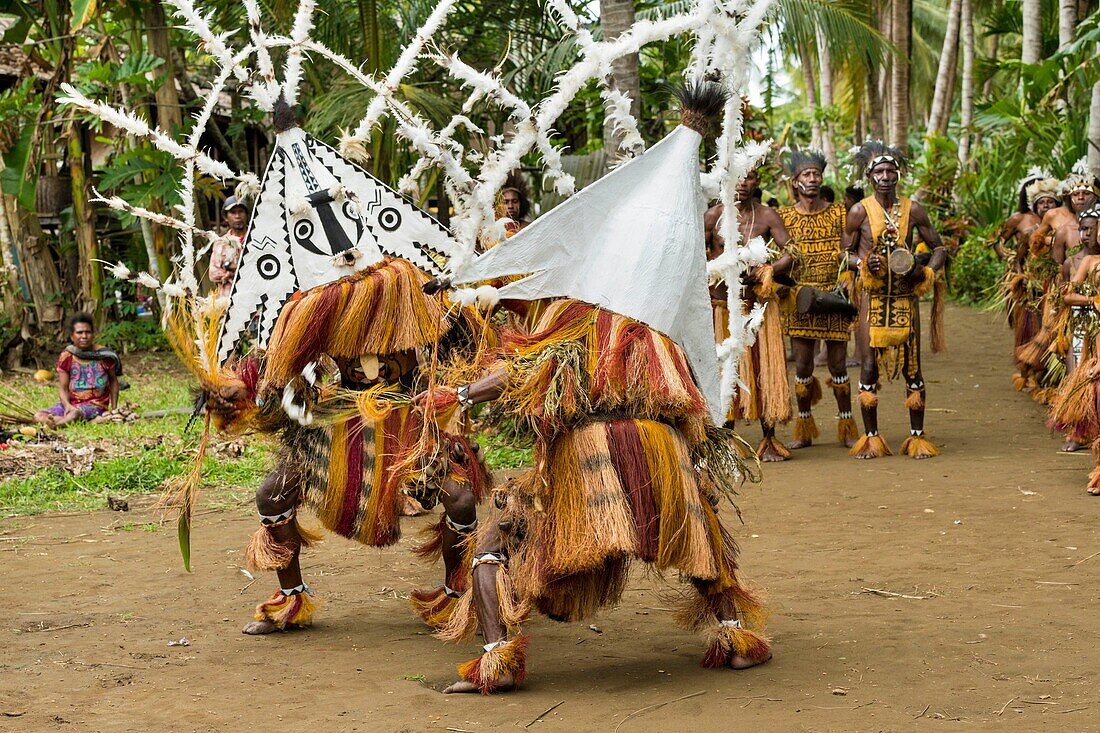
<instances>
[{"instance_id":1,"label":"orange fibre shoulder fringe directly beneath the eye-painted white mask","mask_svg":"<svg viewBox=\"0 0 1100 733\"><path fill-rule=\"evenodd\" d=\"M282 387L321 353L356 359L435 342L449 322L442 299L421 289L426 282L428 276L411 262L387 258L296 293L272 333L264 381Z\"/></svg>"}]
</instances>

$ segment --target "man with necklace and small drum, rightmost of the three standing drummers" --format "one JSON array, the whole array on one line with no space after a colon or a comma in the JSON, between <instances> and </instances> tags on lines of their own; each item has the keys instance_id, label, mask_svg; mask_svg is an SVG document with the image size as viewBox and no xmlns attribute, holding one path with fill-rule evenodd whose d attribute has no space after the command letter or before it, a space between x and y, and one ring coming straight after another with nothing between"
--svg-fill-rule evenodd
<instances>
[{"instance_id":1,"label":"man with necklace and small drum, rightmost of the three standing drummers","mask_svg":"<svg viewBox=\"0 0 1100 733\"><path fill-rule=\"evenodd\" d=\"M947 250L924 207L898 196L899 177L908 167L901 151L878 140L867 141L854 162L873 193L851 208L845 227L848 264L858 270L864 294L856 338L869 347L859 376L864 436L853 447L851 456L867 459L891 455L879 435L878 420L879 378L886 372L888 380L899 373L905 380L910 436L901 452L911 458L932 458L939 451L924 435L920 299L934 287L936 274L947 261ZM926 264L914 256L914 231L932 249ZM932 308L933 351L942 350L942 298L937 288Z\"/></svg>"}]
</instances>

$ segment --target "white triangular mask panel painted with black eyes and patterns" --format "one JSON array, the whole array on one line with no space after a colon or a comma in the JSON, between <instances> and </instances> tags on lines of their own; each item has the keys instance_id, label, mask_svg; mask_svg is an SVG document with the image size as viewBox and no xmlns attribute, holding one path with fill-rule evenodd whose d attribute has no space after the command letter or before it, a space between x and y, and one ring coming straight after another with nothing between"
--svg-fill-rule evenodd
<instances>
[{"instance_id":1,"label":"white triangular mask panel painted with black eyes and patterns","mask_svg":"<svg viewBox=\"0 0 1100 733\"><path fill-rule=\"evenodd\" d=\"M458 244L430 216L300 128L276 136L244 239L218 359L255 320L265 348L286 300L383 256L439 274Z\"/></svg>"}]
</instances>

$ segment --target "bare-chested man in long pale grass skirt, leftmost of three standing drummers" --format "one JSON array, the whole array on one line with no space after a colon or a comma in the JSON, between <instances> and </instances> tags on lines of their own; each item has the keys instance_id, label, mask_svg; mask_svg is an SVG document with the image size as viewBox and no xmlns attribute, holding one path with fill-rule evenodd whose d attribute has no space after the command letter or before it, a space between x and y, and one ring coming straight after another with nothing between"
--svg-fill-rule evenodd
<instances>
[{"instance_id":1,"label":"bare-chested man in long pale grass skirt, leftmost of three standing drummers","mask_svg":"<svg viewBox=\"0 0 1100 733\"><path fill-rule=\"evenodd\" d=\"M783 227L776 209L761 204L756 196L760 190L760 174L749 171L737 184L737 228L741 242L757 237L774 245L772 261L759 265L744 276L745 303L748 309L757 303L765 304L763 321L757 340L745 352L739 374L749 390L738 390L729 419L760 420L763 439L757 448L761 461L785 461L791 451L776 438L776 425L791 419L791 389L787 382L787 352L783 348L783 331L774 277L785 275L794 265L794 258L785 250L791 238ZM703 217L706 241L706 256L713 260L725 251L722 237L722 204L711 207ZM718 343L729 336L729 311L727 309L726 285L711 288L711 305L714 313L714 335Z\"/></svg>"}]
</instances>

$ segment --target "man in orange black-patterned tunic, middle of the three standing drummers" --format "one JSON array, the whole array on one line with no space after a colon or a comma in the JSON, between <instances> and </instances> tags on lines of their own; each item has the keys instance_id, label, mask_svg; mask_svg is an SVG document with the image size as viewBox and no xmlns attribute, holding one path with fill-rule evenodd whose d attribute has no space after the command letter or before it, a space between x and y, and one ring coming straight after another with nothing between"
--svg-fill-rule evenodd
<instances>
[{"instance_id":1,"label":"man in orange black-patterned tunic, middle of the three standing drummers","mask_svg":"<svg viewBox=\"0 0 1100 733\"><path fill-rule=\"evenodd\" d=\"M802 287L822 291L836 288L844 264L844 205L829 204L822 198L822 179L825 156L816 151L792 151L787 168L791 175L794 206L785 206L779 216L801 253L794 278ZM836 396L838 412L837 441L851 448L859 437L851 416L851 384L846 366L848 335L851 318L842 313L799 313L788 308L784 330L791 338L794 353L794 394L799 416L794 423L794 440L787 445L792 450L805 448L818 436L817 424L811 412L822 397L821 383L814 376L814 349L825 342L829 371L828 385Z\"/></svg>"}]
</instances>

